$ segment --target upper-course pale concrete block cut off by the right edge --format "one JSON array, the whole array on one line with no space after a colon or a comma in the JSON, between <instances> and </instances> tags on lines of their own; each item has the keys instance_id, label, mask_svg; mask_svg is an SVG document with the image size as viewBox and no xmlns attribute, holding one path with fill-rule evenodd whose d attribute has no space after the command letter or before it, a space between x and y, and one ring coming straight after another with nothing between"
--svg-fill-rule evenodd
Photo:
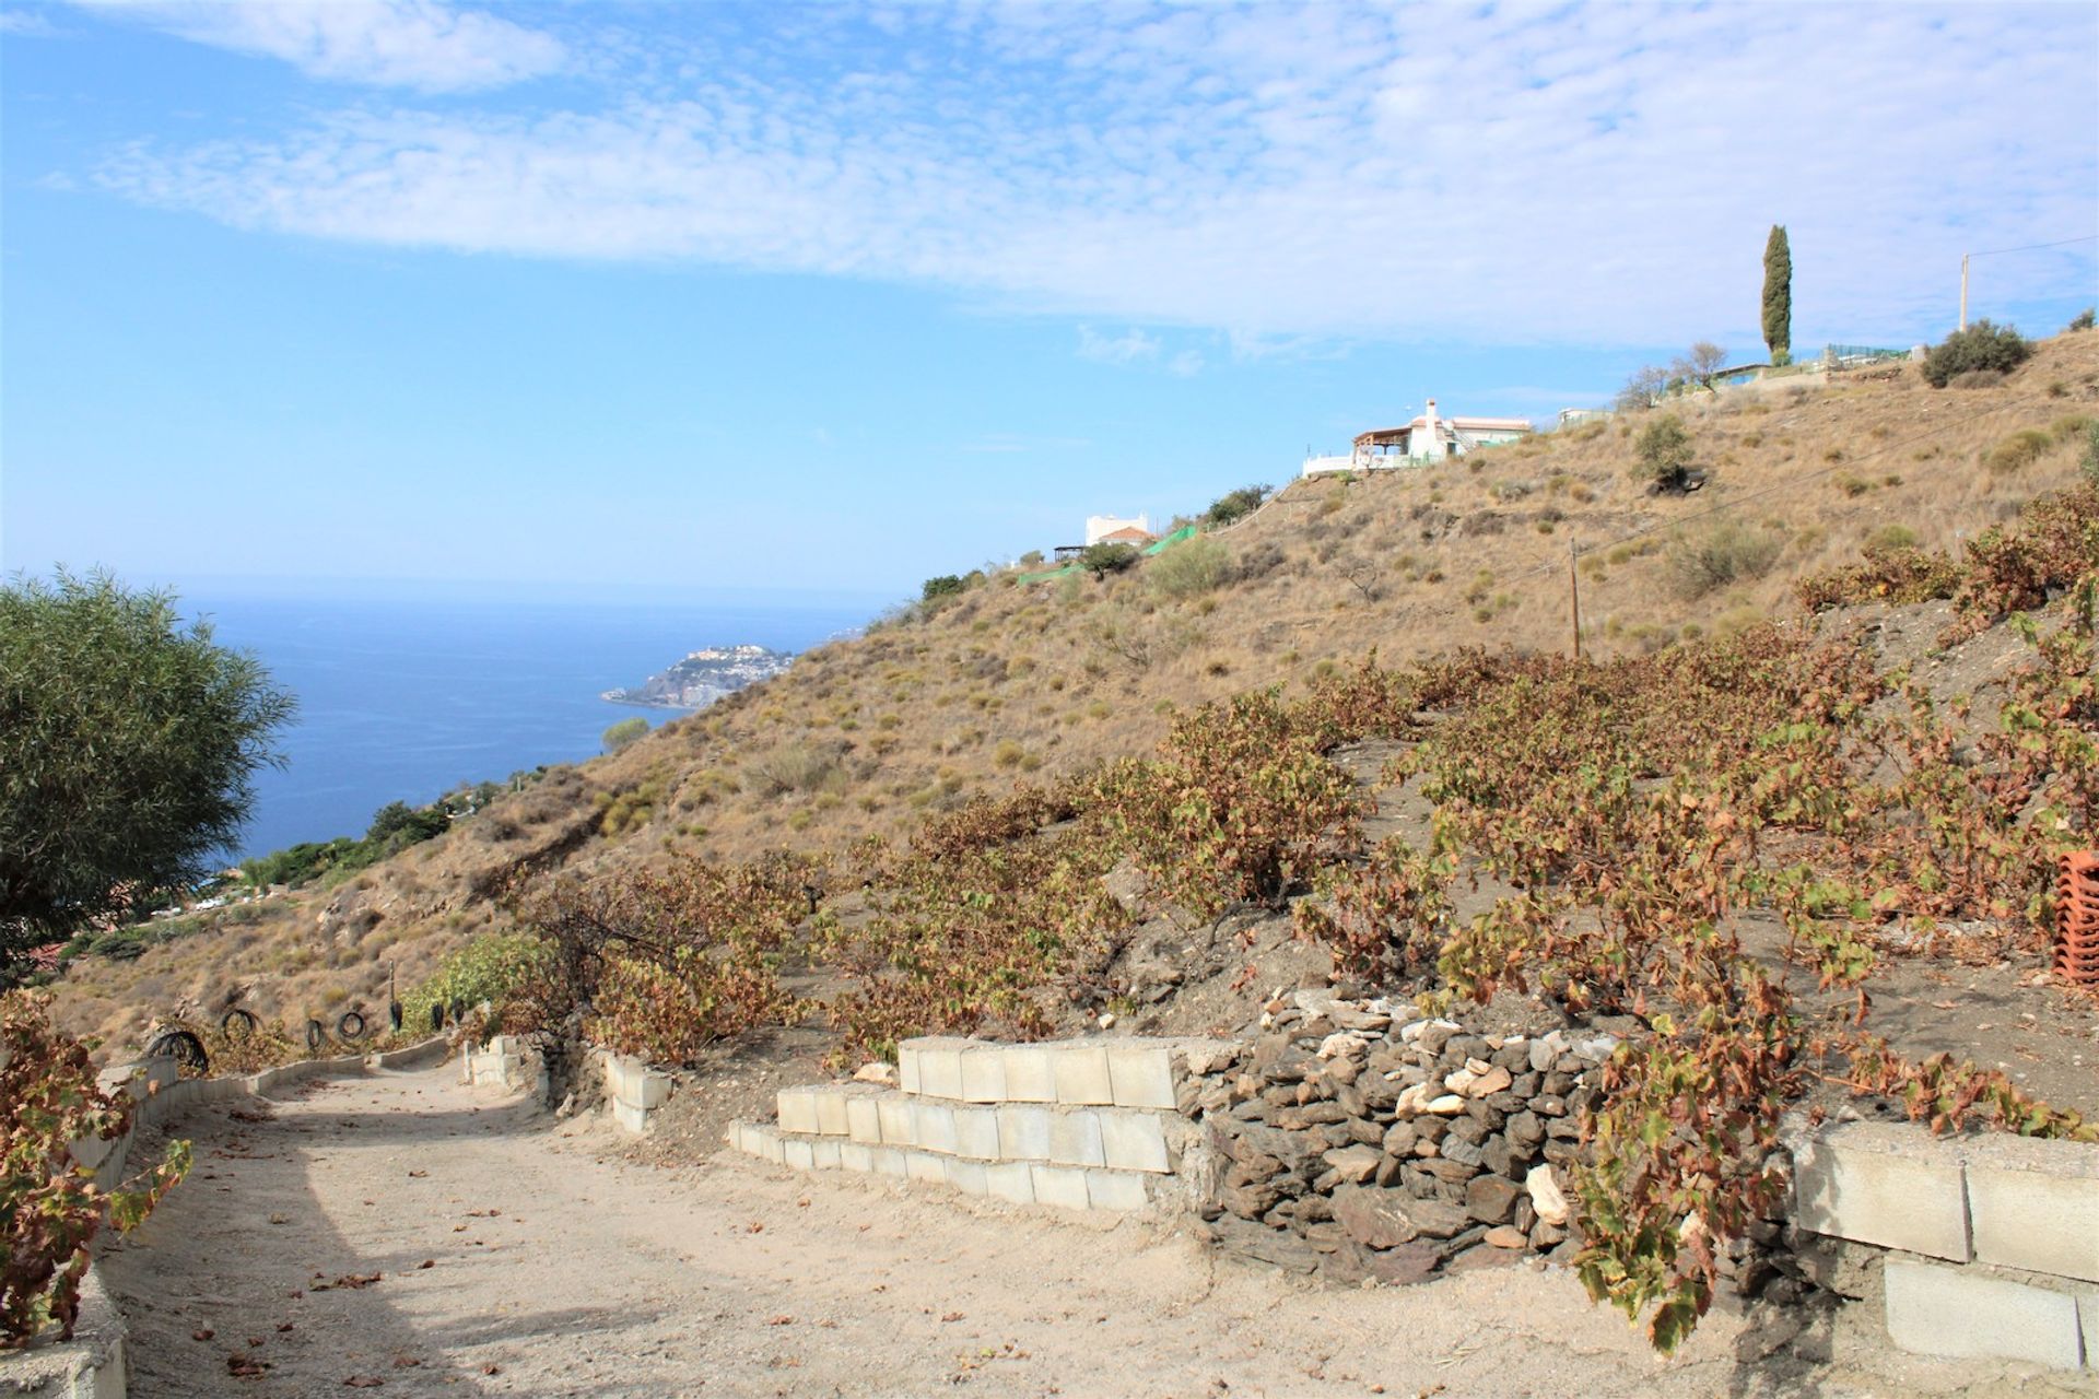
<instances>
[{"instance_id":1,"label":"upper-course pale concrete block cut off by the right edge","mask_svg":"<svg viewBox=\"0 0 2099 1399\"><path fill-rule=\"evenodd\" d=\"M2099 1145L1963 1141L1975 1258L2099 1282Z\"/></svg>"}]
</instances>

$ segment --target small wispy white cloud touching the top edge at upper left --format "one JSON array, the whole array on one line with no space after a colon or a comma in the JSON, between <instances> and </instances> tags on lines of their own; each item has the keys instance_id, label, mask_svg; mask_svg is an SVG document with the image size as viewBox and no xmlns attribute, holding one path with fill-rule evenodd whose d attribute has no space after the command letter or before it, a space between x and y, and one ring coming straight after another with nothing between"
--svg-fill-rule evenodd
<instances>
[{"instance_id":1,"label":"small wispy white cloud touching the top edge at upper left","mask_svg":"<svg viewBox=\"0 0 2099 1399\"><path fill-rule=\"evenodd\" d=\"M468 92L552 73L563 44L437 0L76 0L330 82Z\"/></svg>"}]
</instances>

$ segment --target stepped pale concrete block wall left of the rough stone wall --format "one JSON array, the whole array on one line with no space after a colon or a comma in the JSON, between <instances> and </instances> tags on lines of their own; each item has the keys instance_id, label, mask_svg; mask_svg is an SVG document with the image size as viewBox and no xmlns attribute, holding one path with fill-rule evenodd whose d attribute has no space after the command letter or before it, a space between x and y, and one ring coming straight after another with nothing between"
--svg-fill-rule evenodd
<instances>
[{"instance_id":1,"label":"stepped pale concrete block wall left of the rough stone wall","mask_svg":"<svg viewBox=\"0 0 2099 1399\"><path fill-rule=\"evenodd\" d=\"M800 1170L858 1170L968 1196L1068 1210L1194 1208L1184 1170L1207 1152L1182 1107L1236 1045L917 1038L898 1086L781 1089L779 1122L739 1122L728 1143Z\"/></svg>"}]
</instances>

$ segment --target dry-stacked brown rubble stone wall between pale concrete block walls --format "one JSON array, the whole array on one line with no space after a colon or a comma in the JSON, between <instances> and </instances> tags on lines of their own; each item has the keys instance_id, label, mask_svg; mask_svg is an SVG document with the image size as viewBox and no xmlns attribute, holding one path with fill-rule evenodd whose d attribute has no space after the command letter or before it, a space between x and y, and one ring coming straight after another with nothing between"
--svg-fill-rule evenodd
<instances>
[{"instance_id":1,"label":"dry-stacked brown rubble stone wall between pale concrete block walls","mask_svg":"<svg viewBox=\"0 0 2099 1399\"><path fill-rule=\"evenodd\" d=\"M1473 1034L1301 990L1199 1093L1222 1242L1341 1282L1574 1248L1568 1166L1608 1034Z\"/></svg>"}]
</instances>

